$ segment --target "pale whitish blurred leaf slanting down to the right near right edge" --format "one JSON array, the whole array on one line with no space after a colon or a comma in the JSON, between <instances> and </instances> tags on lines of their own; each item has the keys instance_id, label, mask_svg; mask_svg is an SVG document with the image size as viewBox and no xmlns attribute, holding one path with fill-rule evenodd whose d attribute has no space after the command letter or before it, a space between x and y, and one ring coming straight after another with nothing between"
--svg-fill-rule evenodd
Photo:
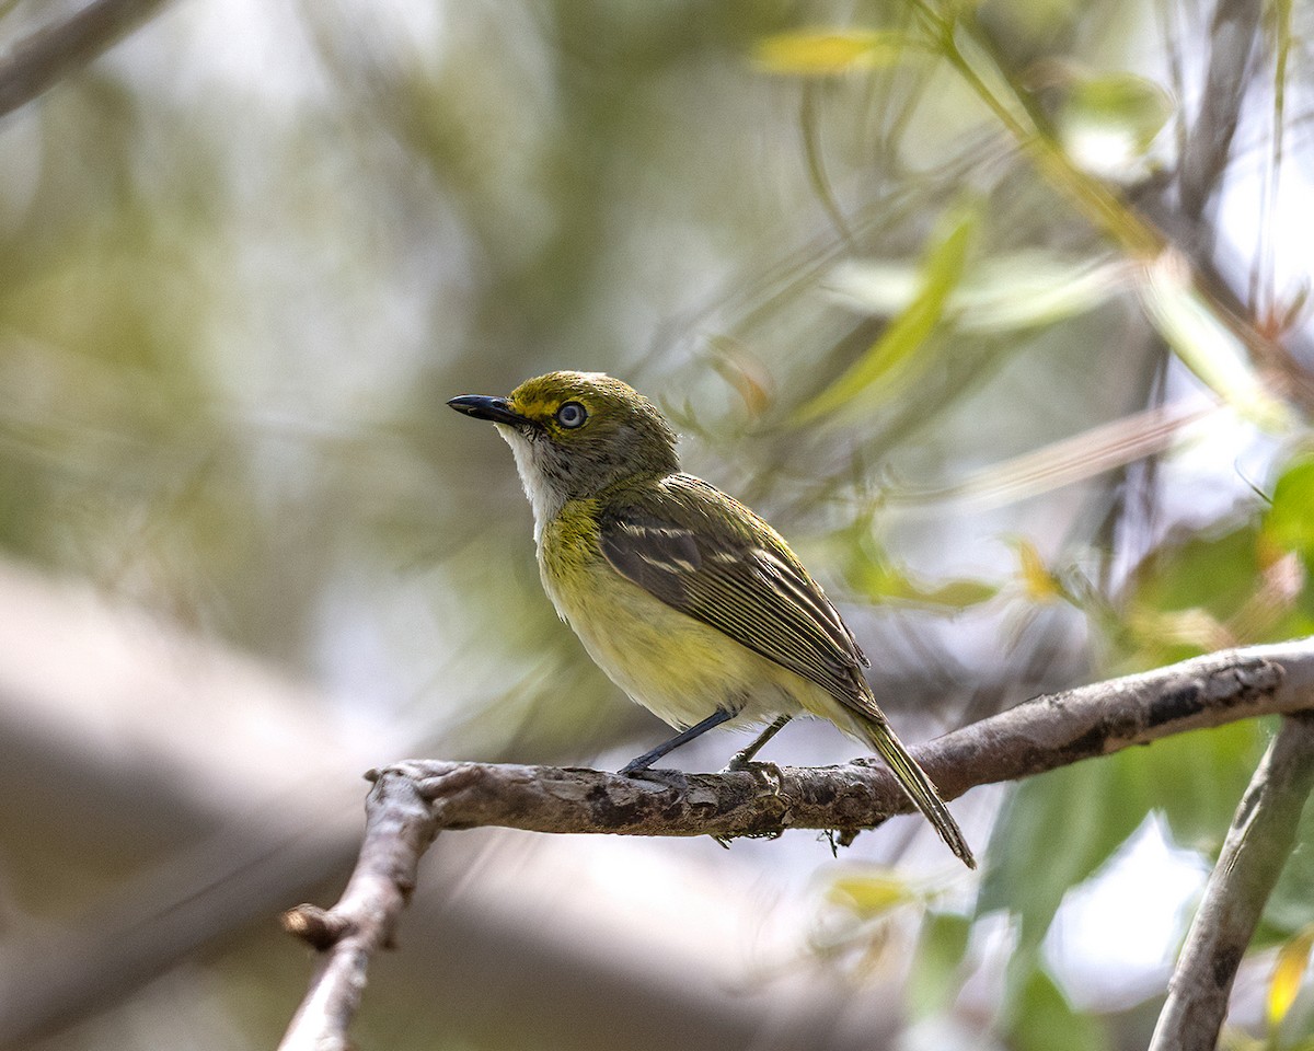
<instances>
[{"instance_id":1,"label":"pale whitish blurred leaf slanting down to the right near right edge","mask_svg":"<svg viewBox=\"0 0 1314 1051\"><path fill-rule=\"evenodd\" d=\"M1144 268L1139 290L1159 335L1215 394L1259 427L1280 431L1290 424L1290 411L1268 393L1246 346L1210 310L1180 255L1160 254Z\"/></svg>"}]
</instances>

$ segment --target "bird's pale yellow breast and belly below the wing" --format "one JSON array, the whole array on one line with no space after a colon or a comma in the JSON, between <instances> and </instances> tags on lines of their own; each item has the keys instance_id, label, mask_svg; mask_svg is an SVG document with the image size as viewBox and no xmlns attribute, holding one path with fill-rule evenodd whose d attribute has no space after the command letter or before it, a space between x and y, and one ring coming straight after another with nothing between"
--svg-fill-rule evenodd
<instances>
[{"instance_id":1,"label":"bird's pale yellow breast and belly below the wing","mask_svg":"<svg viewBox=\"0 0 1314 1051\"><path fill-rule=\"evenodd\" d=\"M597 501L570 501L547 523L539 570L589 656L671 725L692 725L716 708L759 720L834 704L815 683L622 577L599 545Z\"/></svg>"}]
</instances>

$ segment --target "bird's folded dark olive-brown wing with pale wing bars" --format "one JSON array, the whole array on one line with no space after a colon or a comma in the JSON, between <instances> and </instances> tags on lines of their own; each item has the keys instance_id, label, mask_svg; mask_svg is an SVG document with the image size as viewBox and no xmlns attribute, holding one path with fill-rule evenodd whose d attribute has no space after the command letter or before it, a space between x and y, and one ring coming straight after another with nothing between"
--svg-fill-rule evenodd
<instances>
[{"instance_id":1,"label":"bird's folded dark olive-brown wing with pale wing bars","mask_svg":"<svg viewBox=\"0 0 1314 1051\"><path fill-rule=\"evenodd\" d=\"M784 541L715 486L687 474L611 507L602 553L668 606L872 713L848 625Z\"/></svg>"}]
</instances>

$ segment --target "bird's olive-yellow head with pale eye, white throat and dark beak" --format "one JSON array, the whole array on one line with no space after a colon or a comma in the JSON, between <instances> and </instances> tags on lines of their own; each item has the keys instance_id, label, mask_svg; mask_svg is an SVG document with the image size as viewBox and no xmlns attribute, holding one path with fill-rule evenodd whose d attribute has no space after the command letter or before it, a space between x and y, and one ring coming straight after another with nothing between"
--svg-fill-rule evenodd
<instances>
[{"instance_id":1,"label":"bird's olive-yellow head with pale eye, white throat and dark beak","mask_svg":"<svg viewBox=\"0 0 1314 1051\"><path fill-rule=\"evenodd\" d=\"M675 432L656 406L600 372L549 372L507 398L463 394L448 405L497 424L540 528L569 499L679 469Z\"/></svg>"}]
</instances>

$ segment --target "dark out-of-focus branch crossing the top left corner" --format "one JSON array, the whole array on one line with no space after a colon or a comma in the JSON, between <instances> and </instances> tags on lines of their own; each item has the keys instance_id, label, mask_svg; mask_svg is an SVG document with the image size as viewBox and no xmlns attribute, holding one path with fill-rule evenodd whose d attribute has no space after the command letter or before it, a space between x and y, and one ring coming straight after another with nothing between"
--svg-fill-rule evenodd
<instances>
[{"instance_id":1,"label":"dark out-of-focus branch crossing the top left corner","mask_svg":"<svg viewBox=\"0 0 1314 1051\"><path fill-rule=\"evenodd\" d=\"M167 0L95 0L20 41L0 62L0 116L26 105L99 58Z\"/></svg>"}]
</instances>

